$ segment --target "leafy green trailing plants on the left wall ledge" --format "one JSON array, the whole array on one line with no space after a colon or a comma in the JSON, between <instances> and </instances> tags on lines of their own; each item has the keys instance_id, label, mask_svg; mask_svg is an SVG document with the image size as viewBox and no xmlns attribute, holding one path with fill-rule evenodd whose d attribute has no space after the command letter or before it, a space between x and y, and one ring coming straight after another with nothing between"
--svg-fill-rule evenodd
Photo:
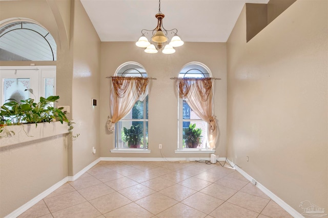
<instances>
[{"instance_id":1,"label":"leafy green trailing plants on the left wall ledge","mask_svg":"<svg viewBox=\"0 0 328 218\"><path fill-rule=\"evenodd\" d=\"M79 134L73 135L73 122L66 117L62 111L63 108L54 108L50 104L56 102L59 96L49 96L47 99L40 97L40 101L35 103L33 99L22 100L16 102L10 99L10 102L5 103L0 107L0 118L2 126L0 126L0 138L13 136L15 133L9 131L5 124L22 125L22 124L35 124L50 123L52 121L59 121L61 124L66 122L69 126L68 131L71 133L72 139L76 139ZM24 126L23 130L26 133ZM28 134L26 134L28 135Z\"/></svg>"}]
</instances>

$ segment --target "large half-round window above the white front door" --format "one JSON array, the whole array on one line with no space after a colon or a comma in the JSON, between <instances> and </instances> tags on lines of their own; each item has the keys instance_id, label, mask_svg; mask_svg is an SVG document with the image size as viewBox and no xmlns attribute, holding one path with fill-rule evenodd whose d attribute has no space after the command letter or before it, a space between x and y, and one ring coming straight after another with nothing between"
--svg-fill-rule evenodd
<instances>
[{"instance_id":1,"label":"large half-round window above the white front door","mask_svg":"<svg viewBox=\"0 0 328 218\"><path fill-rule=\"evenodd\" d=\"M55 61L56 42L33 20L0 22L0 61Z\"/></svg>"}]
</instances>

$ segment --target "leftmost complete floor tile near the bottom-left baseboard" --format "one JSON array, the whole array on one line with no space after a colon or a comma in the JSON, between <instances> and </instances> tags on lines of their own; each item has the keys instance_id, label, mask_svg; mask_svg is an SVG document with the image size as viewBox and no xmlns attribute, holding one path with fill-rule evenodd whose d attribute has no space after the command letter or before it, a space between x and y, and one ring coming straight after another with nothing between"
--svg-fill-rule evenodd
<instances>
[{"instance_id":1,"label":"leftmost complete floor tile near the bottom-left baseboard","mask_svg":"<svg viewBox=\"0 0 328 218\"><path fill-rule=\"evenodd\" d=\"M72 191L60 196L44 199L44 201L50 212L55 212L86 202L87 200L83 198L77 191Z\"/></svg>"}]
</instances>

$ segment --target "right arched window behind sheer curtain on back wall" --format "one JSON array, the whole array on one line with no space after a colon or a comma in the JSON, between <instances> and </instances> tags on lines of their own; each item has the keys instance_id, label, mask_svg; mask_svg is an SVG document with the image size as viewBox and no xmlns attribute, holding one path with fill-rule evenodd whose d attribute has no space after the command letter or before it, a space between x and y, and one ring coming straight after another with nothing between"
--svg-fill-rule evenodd
<instances>
[{"instance_id":1,"label":"right arched window behind sheer curtain on back wall","mask_svg":"<svg viewBox=\"0 0 328 218\"><path fill-rule=\"evenodd\" d=\"M178 77L211 78L212 74L206 65L200 62L191 62L182 67ZM206 122L194 113L185 100L178 98L178 150L207 150L209 146L207 125ZM191 132L200 134L200 144L187 142L188 137L193 137Z\"/></svg>"}]
</instances>

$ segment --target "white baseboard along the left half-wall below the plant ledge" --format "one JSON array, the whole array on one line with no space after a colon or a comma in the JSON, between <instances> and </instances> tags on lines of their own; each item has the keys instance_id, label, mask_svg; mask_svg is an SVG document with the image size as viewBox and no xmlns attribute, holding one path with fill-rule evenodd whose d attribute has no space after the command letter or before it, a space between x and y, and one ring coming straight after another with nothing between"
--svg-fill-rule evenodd
<instances>
[{"instance_id":1,"label":"white baseboard along the left half-wall below the plant ledge","mask_svg":"<svg viewBox=\"0 0 328 218\"><path fill-rule=\"evenodd\" d=\"M12 218L17 217L20 214L24 213L26 210L30 209L32 206L34 206L37 202L41 201L42 199L46 198L51 192L55 191L60 186L64 185L66 182L68 182L68 178L65 177L64 179L60 180L44 192L40 193L38 196L27 202L26 204L20 206L18 209L12 211L8 215L5 216L5 218Z\"/></svg>"}]
</instances>

